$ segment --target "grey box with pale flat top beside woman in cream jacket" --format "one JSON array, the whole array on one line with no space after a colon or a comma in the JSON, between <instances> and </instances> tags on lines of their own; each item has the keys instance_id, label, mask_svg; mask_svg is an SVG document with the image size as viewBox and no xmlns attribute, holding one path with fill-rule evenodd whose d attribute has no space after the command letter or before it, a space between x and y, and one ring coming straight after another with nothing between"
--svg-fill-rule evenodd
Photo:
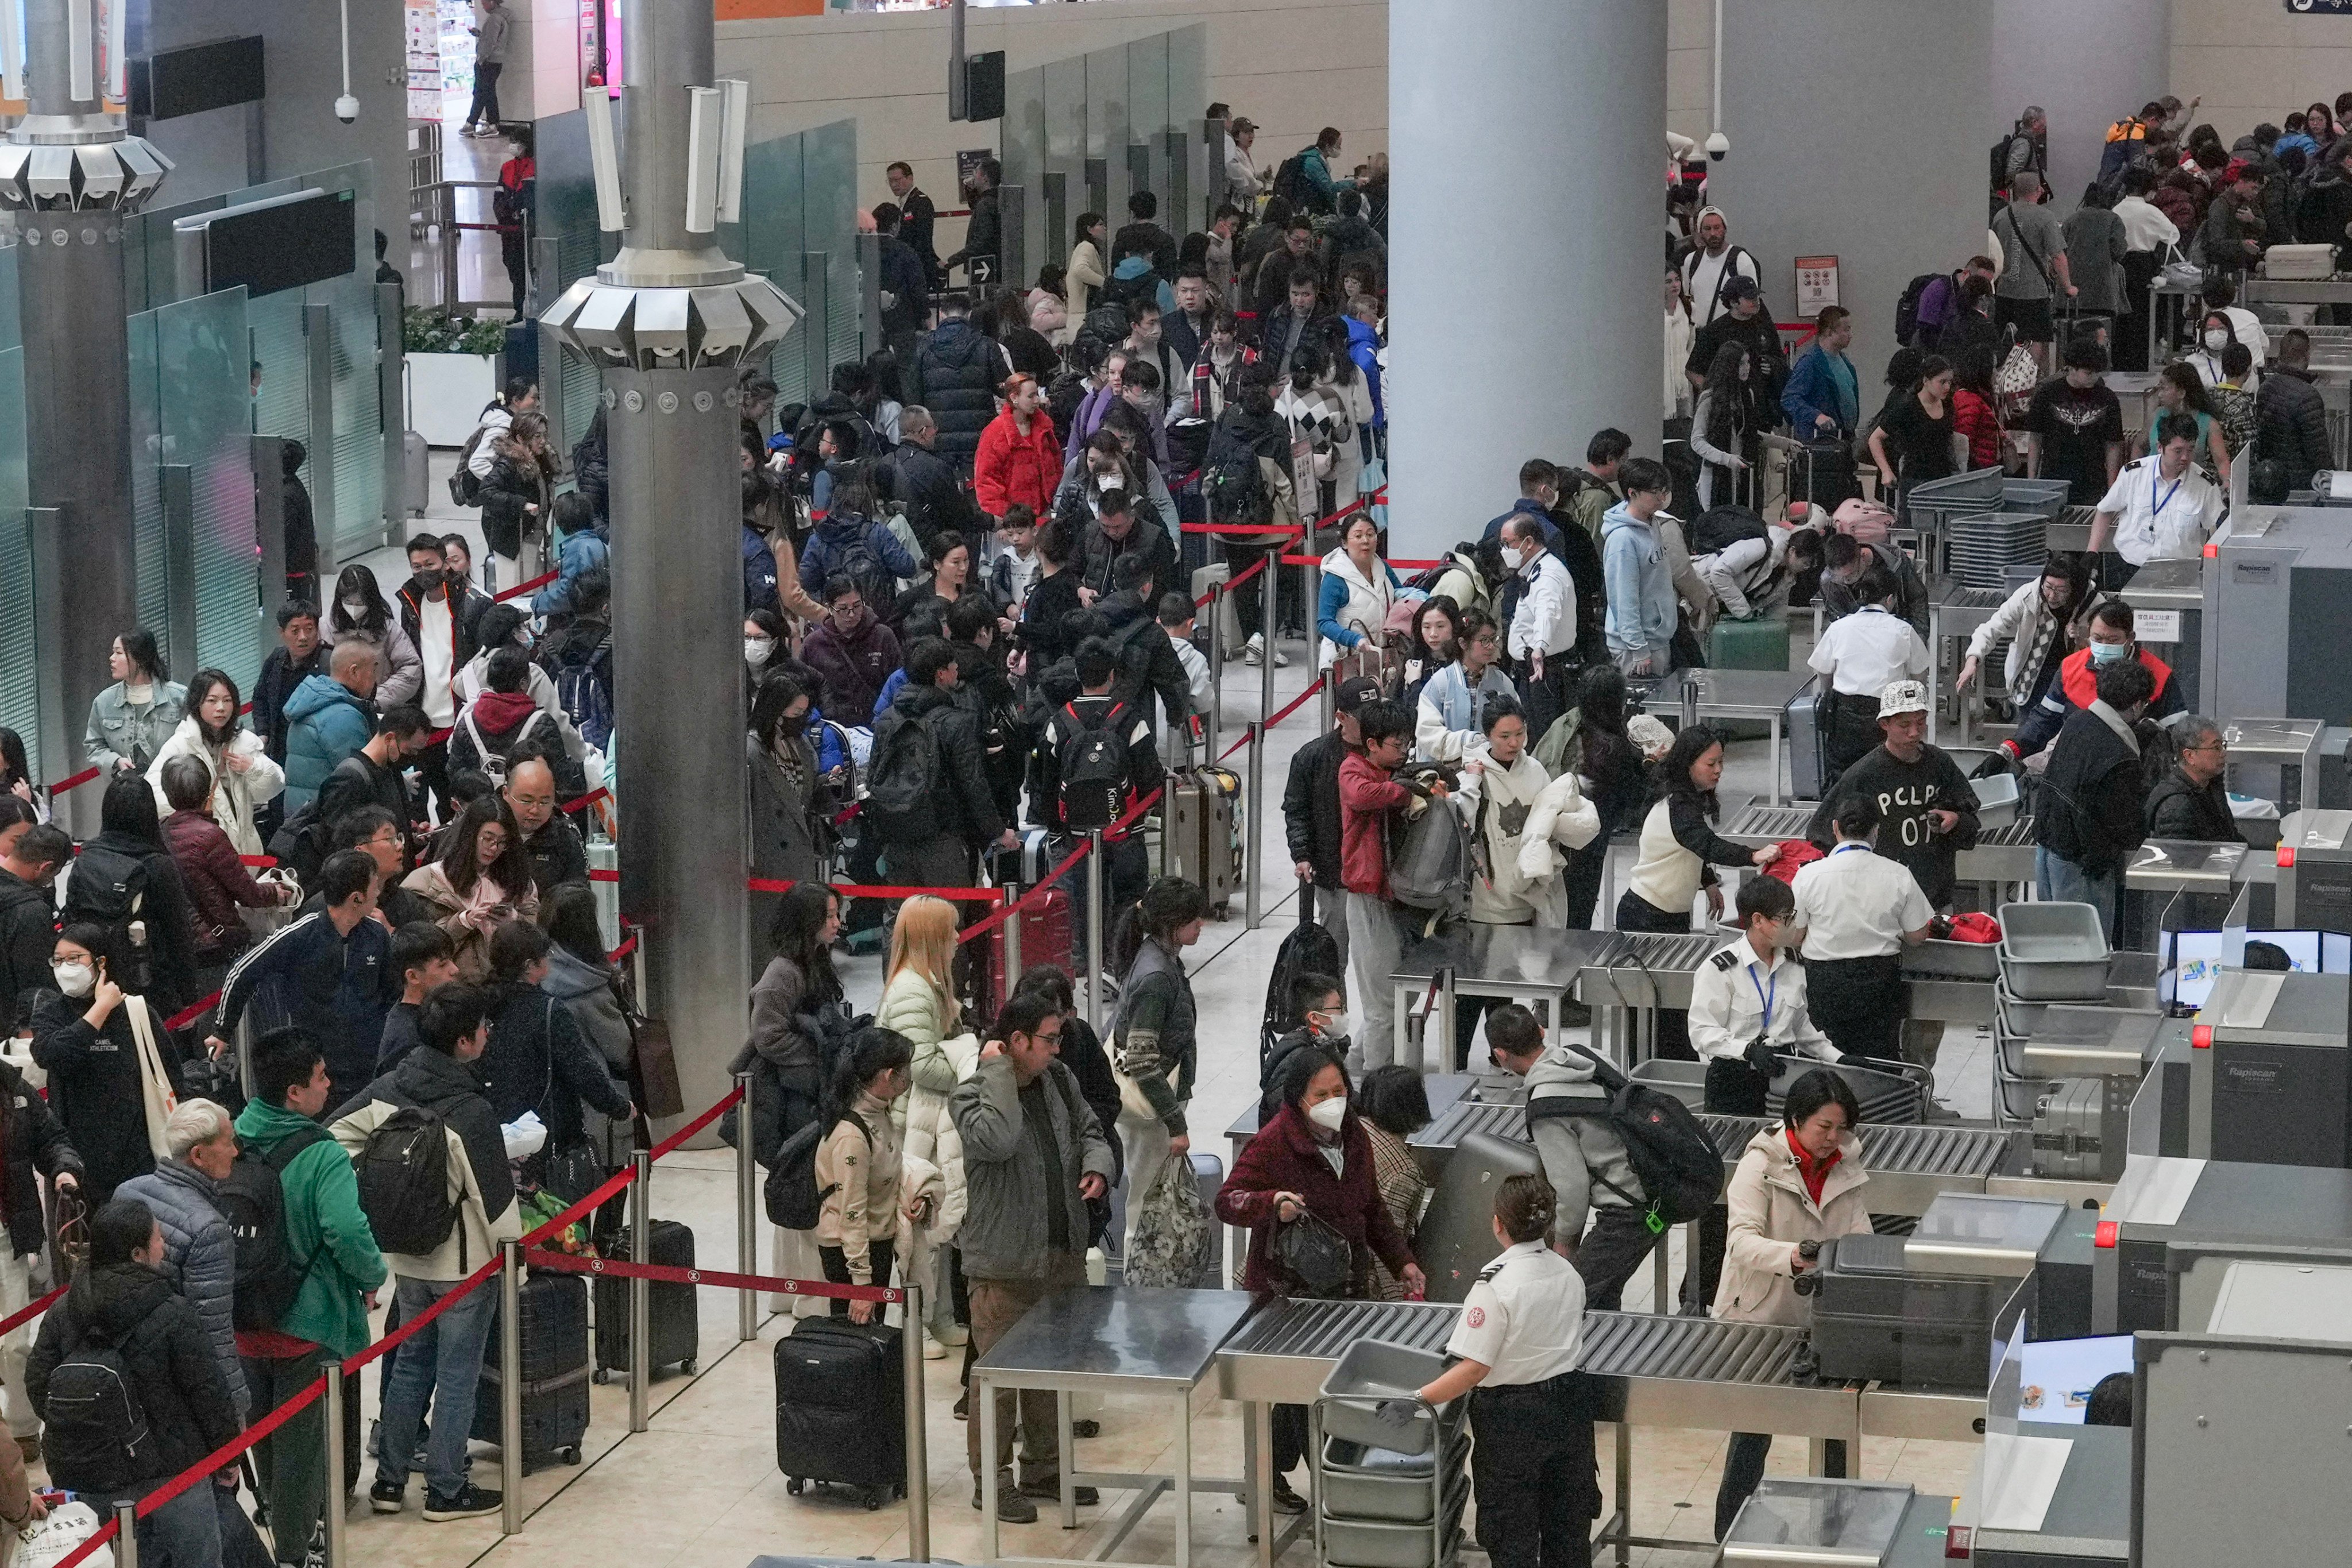
<instances>
[{"instance_id":1,"label":"grey box with pale flat top beside woman in cream jacket","mask_svg":"<svg viewBox=\"0 0 2352 1568\"><path fill-rule=\"evenodd\" d=\"M1983 1389L1997 1328L2030 1307L2034 1265L2065 1204L1947 1192L1907 1237L1820 1246L1813 1356L1832 1382Z\"/></svg>"}]
</instances>

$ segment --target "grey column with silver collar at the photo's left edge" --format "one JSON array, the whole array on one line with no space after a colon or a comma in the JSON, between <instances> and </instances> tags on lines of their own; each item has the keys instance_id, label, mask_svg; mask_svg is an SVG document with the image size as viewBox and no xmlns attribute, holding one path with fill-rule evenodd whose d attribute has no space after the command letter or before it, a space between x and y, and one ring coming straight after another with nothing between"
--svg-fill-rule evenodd
<instances>
[{"instance_id":1,"label":"grey column with silver collar at the photo's left edge","mask_svg":"<svg viewBox=\"0 0 2352 1568\"><path fill-rule=\"evenodd\" d=\"M59 646L35 649L61 691L61 712L42 715L49 778L80 771L82 719L111 684L108 646L136 618L122 223L172 167L106 113L99 14L89 7L78 28L66 0L26 5L28 113L0 143L0 207L21 242L26 491L61 520L61 548L33 585L59 611L47 621ZM71 750L56 755L56 743ZM75 818L94 830L96 806Z\"/></svg>"}]
</instances>

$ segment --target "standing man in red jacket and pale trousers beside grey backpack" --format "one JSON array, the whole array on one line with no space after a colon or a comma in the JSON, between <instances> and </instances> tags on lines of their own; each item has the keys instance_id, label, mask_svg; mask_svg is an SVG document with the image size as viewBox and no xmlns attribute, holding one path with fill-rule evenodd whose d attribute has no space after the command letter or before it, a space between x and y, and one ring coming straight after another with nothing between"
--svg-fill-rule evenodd
<instances>
[{"instance_id":1,"label":"standing man in red jacket and pale trousers beside grey backpack","mask_svg":"<svg viewBox=\"0 0 2352 1568\"><path fill-rule=\"evenodd\" d=\"M1388 823L1399 811L1421 816L1430 799L1395 780L1414 745L1414 715L1381 701L1357 708L1355 719L1364 748L1338 764L1338 879L1348 889L1348 973L1364 1011L1348 1072L1364 1074L1395 1058L1395 973L1404 929L1388 891Z\"/></svg>"}]
</instances>

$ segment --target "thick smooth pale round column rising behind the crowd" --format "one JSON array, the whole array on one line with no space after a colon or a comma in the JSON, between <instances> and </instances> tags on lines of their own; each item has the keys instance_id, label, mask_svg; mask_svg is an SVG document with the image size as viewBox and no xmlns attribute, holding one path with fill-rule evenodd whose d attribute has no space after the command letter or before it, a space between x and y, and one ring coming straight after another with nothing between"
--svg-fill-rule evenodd
<instances>
[{"instance_id":1,"label":"thick smooth pale round column rising behind the crowd","mask_svg":"<svg viewBox=\"0 0 2352 1568\"><path fill-rule=\"evenodd\" d=\"M1663 0L1390 0L1390 550L1437 555L1602 425L1656 456Z\"/></svg>"}]
</instances>

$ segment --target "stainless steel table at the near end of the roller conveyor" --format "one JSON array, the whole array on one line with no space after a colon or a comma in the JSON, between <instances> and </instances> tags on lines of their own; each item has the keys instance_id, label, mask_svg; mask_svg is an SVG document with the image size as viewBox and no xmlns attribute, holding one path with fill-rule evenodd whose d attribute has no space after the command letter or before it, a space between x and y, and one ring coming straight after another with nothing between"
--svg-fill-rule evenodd
<instances>
[{"instance_id":1,"label":"stainless steel table at the near end of the roller conveyor","mask_svg":"<svg viewBox=\"0 0 2352 1568\"><path fill-rule=\"evenodd\" d=\"M1242 1291L1150 1291L1080 1286L1049 1295L1011 1333L971 1363L971 1420L981 1422L981 1556L990 1563L1077 1563L1087 1559L1004 1556L997 1530L997 1389L1054 1389L1061 1434L1061 1526L1077 1528L1077 1486L1134 1488L1103 1561L1136 1528L1160 1493L1176 1495L1174 1568L1192 1563L1192 1493L1247 1490L1242 1481L1192 1479L1192 1389L1209 1375L1218 1347L1249 1316ZM1070 1394L1150 1394L1174 1403L1176 1460L1169 1474L1080 1472L1070 1441Z\"/></svg>"}]
</instances>

